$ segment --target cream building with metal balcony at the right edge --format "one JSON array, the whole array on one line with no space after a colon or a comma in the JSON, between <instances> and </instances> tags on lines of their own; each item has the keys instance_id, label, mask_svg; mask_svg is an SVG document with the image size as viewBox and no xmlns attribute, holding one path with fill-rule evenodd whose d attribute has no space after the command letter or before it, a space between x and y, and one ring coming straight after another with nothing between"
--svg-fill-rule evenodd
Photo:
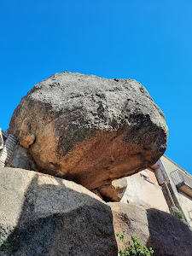
<instances>
[{"instance_id":1,"label":"cream building with metal balcony at the right edge","mask_svg":"<svg viewBox=\"0 0 192 256\"><path fill-rule=\"evenodd\" d=\"M192 226L192 176L166 155L153 167L170 210L177 207Z\"/></svg>"}]
</instances>

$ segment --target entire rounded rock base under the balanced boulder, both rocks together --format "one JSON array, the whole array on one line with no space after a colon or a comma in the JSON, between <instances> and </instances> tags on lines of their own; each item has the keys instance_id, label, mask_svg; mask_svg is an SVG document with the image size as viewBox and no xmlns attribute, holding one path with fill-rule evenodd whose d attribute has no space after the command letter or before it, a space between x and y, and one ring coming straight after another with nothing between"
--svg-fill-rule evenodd
<instances>
[{"instance_id":1,"label":"entire rounded rock base under the balanced boulder, both rocks together","mask_svg":"<svg viewBox=\"0 0 192 256\"><path fill-rule=\"evenodd\" d=\"M169 213L106 204L77 183L0 168L0 256L117 256L118 232L137 235L155 256L191 256L192 232Z\"/></svg>"}]
</instances>

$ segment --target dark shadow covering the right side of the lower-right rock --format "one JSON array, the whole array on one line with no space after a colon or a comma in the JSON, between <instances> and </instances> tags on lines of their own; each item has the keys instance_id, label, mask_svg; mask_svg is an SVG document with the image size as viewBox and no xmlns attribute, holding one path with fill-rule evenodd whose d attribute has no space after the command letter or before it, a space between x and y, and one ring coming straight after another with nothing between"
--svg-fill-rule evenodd
<instances>
[{"instance_id":1,"label":"dark shadow covering the right side of the lower-right rock","mask_svg":"<svg viewBox=\"0 0 192 256\"><path fill-rule=\"evenodd\" d=\"M148 209L149 238L154 256L191 256L192 232L186 224L167 212Z\"/></svg>"}]
</instances>

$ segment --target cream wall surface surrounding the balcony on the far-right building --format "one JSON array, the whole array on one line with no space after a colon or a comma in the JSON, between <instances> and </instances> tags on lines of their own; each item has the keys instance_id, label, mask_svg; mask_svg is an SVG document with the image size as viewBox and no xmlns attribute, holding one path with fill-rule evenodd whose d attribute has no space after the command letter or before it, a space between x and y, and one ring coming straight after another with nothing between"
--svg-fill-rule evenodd
<instances>
[{"instance_id":1,"label":"cream wall surface surrounding the balcony on the far-right building","mask_svg":"<svg viewBox=\"0 0 192 256\"><path fill-rule=\"evenodd\" d=\"M185 218L187 218L189 224L192 226L192 198L190 198L188 195L183 194L181 191L179 191L179 189L177 190L171 176L171 172L175 170L179 170L180 172L187 173L188 175L189 173L183 170L183 168L181 168L180 166L177 166L176 163L174 163L172 160L167 158L165 155L163 155L160 158L160 160L166 170L167 176L169 177L169 182L171 183L171 186L172 186L172 190L177 197L177 201L179 202L180 207L183 210ZM191 176L189 175L189 177Z\"/></svg>"}]
</instances>

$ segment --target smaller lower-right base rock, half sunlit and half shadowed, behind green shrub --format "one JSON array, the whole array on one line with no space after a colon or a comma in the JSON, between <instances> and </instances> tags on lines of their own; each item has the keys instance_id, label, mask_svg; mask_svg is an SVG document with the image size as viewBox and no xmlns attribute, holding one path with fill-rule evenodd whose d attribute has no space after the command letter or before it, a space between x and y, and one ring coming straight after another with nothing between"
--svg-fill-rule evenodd
<instances>
[{"instance_id":1,"label":"smaller lower-right base rock, half sunlit and half shadowed, behind green shrub","mask_svg":"<svg viewBox=\"0 0 192 256\"><path fill-rule=\"evenodd\" d=\"M192 232L170 213L144 209L134 204L108 203L113 212L115 233L123 233L127 241L137 235L142 244L154 249L155 256L191 256ZM117 238L119 249L125 244Z\"/></svg>"}]
</instances>

